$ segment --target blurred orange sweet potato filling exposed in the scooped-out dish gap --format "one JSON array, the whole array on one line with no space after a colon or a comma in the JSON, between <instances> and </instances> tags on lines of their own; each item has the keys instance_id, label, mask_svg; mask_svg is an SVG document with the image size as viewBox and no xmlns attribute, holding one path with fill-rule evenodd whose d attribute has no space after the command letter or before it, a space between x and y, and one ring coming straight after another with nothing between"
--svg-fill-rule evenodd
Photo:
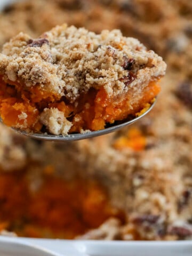
<instances>
[{"instance_id":1,"label":"blurred orange sweet potato filling exposed in the scooped-out dish gap","mask_svg":"<svg viewBox=\"0 0 192 256\"><path fill-rule=\"evenodd\" d=\"M124 221L123 212L109 203L97 182L67 182L49 174L35 192L29 189L25 174L1 174L0 209L0 231L25 237L71 239L110 217Z\"/></svg>"}]
</instances>

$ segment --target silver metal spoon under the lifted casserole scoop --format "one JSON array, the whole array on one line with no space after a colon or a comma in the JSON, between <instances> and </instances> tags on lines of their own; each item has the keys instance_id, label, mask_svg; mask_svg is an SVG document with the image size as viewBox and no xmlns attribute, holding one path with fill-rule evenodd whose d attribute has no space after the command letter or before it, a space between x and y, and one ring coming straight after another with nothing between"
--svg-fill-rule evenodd
<instances>
[{"instance_id":1,"label":"silver metal spoon under the lifted casserole scoop","mask_svg":"<svg viewBox=\"0 0 192 256\"><path fill-rule=\"evenodd\" d=\"M110 127L107 127L106 129L99 130L99 131L94 131L94 132L87 132L87 133L75 133L75 134L69 134L66 136L63 135L51 135L51 134L46 134L46 133L30 133L26 131L22 131L19 129L14 129L15 131L19 132L22 135L26 135L28 137L31 137L33 139L37 140L49 140L49 141L75 141L75 140L83 140L83 139L88 139L88 138L93 138L97 137L100 135L104 135L110 132L117 131L119 129L122 129L125 126L131 125L135 122L137 122L139 119L141 119L143 116L147 115L149 111L154 107L155 102L150 106L149 109L142 115L135 117L129 121L122 121L119 124L111 125ZM2 120L1 120L2 121Z\"/></svg>"}]
</instances>

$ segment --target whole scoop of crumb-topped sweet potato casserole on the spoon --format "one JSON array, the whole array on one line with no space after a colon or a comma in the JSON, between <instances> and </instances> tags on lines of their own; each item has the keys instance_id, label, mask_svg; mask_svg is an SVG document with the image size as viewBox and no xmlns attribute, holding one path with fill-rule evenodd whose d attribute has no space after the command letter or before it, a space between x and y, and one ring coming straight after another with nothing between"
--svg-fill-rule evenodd
<instances>
[{"instance_id":1,"label":"whole scoop of crumb-topped sweet potato casserole on the spoon","mask_svg":"<svg viewBox=\"0 0 192 256\"><path fill-rule=\"evenodd\" d=\"M101 130L145 108L165 69L154 51L119 30L97 35L62 25L38 39L20 33L0 55L1 116L32 132Z\"/></svg>"}]
</instances>

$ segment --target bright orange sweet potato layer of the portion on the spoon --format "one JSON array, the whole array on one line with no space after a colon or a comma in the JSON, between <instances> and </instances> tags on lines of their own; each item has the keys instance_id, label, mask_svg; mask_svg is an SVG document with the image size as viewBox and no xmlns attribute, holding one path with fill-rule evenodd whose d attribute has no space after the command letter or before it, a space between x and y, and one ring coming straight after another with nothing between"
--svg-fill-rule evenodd
<instances>
[{"instance_id":1,"label":"bright orange sweet potato layer of the portion on the spoon","mask_svg":"<svg viewBox=\"0 0 192 256\"><path fill-rule=\"evenodd\" d=\"M26 124L24 119L18 117L24 112L27 114L27 128L34 132L42 129L38 117L44 108L56 107L63 111L73 123L70 133L80 132L82 129L97 131L104 129L107 123L113 124L134 115L145 108L145 104L151 102L160 91L160 86L152 81L137 103L130 106L134 97L132 90L118 97L108 98L105 89L90 89L72 104L57 94L43 90L39 85L25 89L19 83L5 83L3 79L0 79L0 84L0 113L4 123L13 127ZM26 129L24 126L23 128Z\"/></svg>"}]
</instances>

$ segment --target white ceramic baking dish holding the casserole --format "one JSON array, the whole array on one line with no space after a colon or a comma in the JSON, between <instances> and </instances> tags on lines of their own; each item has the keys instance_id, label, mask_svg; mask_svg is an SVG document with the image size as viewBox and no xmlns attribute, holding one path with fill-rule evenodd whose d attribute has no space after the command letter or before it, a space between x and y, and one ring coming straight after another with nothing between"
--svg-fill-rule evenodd
<instances>
[{"instance_id":1,"label":"white ceramic baking dish holding the casserole","mask_svg":"<svg viewBox=\"0 0 192 256\"><path fill-rule=\"evenodd\" d=\"M0 10L16 0L0 0ZM23 1L23 0L20 0ZM31 0L33 1L33 0ZM68 241L0 236L0 256L192 256L192 241Z\"/></svg>"}]
</instances>

